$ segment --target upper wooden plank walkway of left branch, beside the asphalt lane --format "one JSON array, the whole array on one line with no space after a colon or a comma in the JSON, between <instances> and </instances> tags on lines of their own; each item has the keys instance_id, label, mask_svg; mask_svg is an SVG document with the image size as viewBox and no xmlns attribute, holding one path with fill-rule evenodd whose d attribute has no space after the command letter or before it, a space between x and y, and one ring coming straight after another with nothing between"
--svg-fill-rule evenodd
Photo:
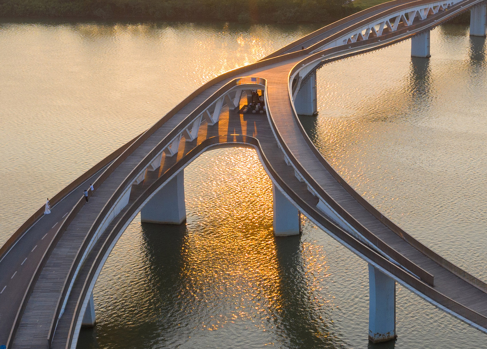
<instances>
[{"instance_id":1,"label":"upper wooden plank walkway of left branch, beside the asphalt lane","mask_svg":"<svg viewBox=\"0 0 487 349\"><path fill-rule=\"evenodd\" d=\"M183 110L174 115L167 123L150 136L141 147L137 148L96 190L95 196L84 205L66 232L56 245L40 274L33 293L19 325L18 335L12 348L46 348L49 325L54 316L58 295L68 275L70 266L79 246L92 226L103 206L112 197L117 187L130 174L131 170L155 147L161 139L177 126L189 112L201 104L225 82L194 98ZM80 193L81 194L81 193ZM72 207L72 206L71 206ZM62 207L69 212L71 207ZM61 209L61 207L59 207ZM33 261L34 262L34 261ZM27 278L27 280L29 280ZM52 311L46 311L50 309ZM46 324L49 324L46 326Z\"/></svg>"}]
</instances>

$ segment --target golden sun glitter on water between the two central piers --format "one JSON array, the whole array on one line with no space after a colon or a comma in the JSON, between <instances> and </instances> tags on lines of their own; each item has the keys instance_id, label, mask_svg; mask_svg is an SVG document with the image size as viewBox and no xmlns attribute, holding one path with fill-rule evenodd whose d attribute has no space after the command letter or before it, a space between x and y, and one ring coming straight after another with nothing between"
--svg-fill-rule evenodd
<instances>
[{"instance_id":1,"label":"golden sun glitter on water between the two central piers","mask_svg":"<svg viewBox=\"0 0 487 349\"><path fill-rule=\"evenodd\" d=\"M187 200L187 210L194 212L188 224L197 221L206 231L187 236L182 270L191 280L187 285L191 294L205 297L209 293L211 305L216 299L231 299L233 309L222 315L219 327L275 307L280 278L272 236L271 181L255 151L240 149L237 156L234 150L225 153L233 153L225 166L212 165L206 178L187 181L207 193ZM211 155L203 154L201 160L209 161ZM188 172L187 178L191 177ZM205 326L216 329L215 324Z\"/></svg>"}]
</instances>

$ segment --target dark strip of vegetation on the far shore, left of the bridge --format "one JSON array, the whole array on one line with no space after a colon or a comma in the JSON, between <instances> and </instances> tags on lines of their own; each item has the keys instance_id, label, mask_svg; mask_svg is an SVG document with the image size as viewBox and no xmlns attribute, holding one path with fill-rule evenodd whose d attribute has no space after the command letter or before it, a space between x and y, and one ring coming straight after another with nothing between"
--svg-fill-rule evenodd
<instances>
[{"instance_id":1,"label":"dark strip of vegetation on the far shore, left of the bridge","mask_svg":"<svg viewBox=\"0 0 487 349\"><path fill-rule=\"evenodd\" d=\"M0 0L1 17L329 23L350 0Z\"/></svg>"}]
</instances>

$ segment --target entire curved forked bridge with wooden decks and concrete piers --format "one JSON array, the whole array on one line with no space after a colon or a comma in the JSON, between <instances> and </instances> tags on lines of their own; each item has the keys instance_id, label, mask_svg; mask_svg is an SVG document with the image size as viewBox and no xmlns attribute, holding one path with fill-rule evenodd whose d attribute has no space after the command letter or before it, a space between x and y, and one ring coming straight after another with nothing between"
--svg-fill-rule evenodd
<instances>
[{"instance_id":1,"label":"entire curved forked bridge with wooden decks and concrete piers","mask_svg":"<svg viewBox=\"0 0 487 349\"><path fill-rule=\"evenodd\" d=\"M316 113L316 70L343 57L412 39L430 55L434 26L471 11L485 36L483 0L394 0L341 19L191 93L154 126L40 208L0 249L0 344L75 348L94 324L93 288L117 239L142 221L186 219L184 168L212 147L257 150L273 182L274 232L299 234L300 212L369 263L369 339L395 338L395 281L487 333L487 284L412 238L365 201L324 160L297 114ZM265 108L239 114L258 91ZM94 183L90 201L81 188ZM94 194L94 195L92 195Z\"/></svg>"}]
</instances>

